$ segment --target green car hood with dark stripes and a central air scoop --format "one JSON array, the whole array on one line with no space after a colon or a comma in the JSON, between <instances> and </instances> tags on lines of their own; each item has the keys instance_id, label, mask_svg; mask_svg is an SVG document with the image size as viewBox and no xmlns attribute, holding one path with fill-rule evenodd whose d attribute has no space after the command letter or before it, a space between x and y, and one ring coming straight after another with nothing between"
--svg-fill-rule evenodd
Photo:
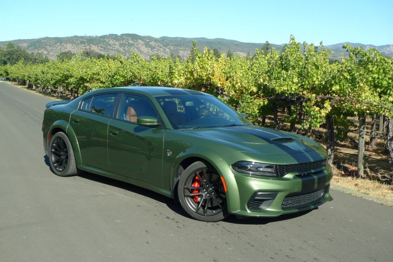
<instances>
[{"instance_id":1,"label":"green car hood with dark stripes and a central air scoop","mask_svg":"<svg viewBox=\"0 0 393 262\"><path fill-rule=\"evenodd\" d=\"M296 154L319 149L318 143L305 136L256 126L182 131L214 142L229 144L239 152L251 152L260 155Z\"/></svg>"}]
</instances>

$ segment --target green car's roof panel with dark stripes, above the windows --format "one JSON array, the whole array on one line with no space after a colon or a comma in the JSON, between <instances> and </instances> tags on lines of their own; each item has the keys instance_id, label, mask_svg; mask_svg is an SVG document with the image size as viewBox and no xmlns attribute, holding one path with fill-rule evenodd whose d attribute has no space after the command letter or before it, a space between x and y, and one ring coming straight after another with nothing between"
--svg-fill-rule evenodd
<instances>
[{"instance_id":1,"label":"green car's roof panel with dark stripes, above the windows","mask_svg":"<svg viewBox=\"0 0 393 262\"><path fill-rule=\"evenodd\" d=\"M161 87L161 86L126 86L126 87L113 87L113 88L104 88L100 89L99 92L134 92L143 95L149 95L154 97L159 96L181 96L181 95L205 95L209 96L206 93L181 89L181 88L173 88L173 87Z\"/></svg>"}]
</instances>

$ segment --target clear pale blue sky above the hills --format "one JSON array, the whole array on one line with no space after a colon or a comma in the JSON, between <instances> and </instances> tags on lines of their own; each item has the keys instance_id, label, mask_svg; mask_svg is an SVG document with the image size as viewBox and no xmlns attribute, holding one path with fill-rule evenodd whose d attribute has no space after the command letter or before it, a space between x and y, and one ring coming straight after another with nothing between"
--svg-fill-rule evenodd
<instances>
[{"instance_id":1,"label":"clear pale blue sky above the hills","mask_svg":"<svg viewBox=\"0 0 393 262\"><path fill-rule=\"evenodd\" d=\"M73 35L393 44L393 0L18 0L1 4L0 41Z\"/></svg>"}]
</instances>

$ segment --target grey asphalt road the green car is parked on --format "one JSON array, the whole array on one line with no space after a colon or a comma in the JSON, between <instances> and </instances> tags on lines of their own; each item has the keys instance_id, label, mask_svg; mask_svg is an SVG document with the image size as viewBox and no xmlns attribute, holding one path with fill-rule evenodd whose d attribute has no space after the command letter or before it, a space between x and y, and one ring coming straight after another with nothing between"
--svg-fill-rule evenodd
<instances>
[{"instance_id":1,"label":"grey asphalt road the green car is parked on","mask_svg":"<svg viewBox=\"0 0 393 262\"><path fill-rule=\"evenodd\" d=\"M44 157L40 95L0 82L0 261L392 261L393 208L334 201L217 223L94 174L61 178Z\"/></svg>"}]
</instances>

